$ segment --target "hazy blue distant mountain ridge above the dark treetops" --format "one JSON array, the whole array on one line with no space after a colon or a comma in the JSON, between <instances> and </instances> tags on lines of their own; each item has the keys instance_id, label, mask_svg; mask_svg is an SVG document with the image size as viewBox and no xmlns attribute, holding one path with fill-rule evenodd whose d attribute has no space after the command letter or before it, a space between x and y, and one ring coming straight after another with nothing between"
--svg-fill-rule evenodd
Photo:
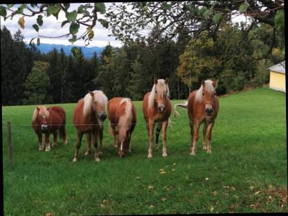
<instances>
[{"instance_id":1,"label":"hazy blue distant mountain ridge above the dark treetops","mask_svg":"<svg viewBox=\"0 0 288 216\"><path fill-rule=\"evenodd\" d=\"M26 46L29 46L29 44L26 44ZM66 55L72 55L71 53L72 47L74 46L73 45L65 46L61 44L40 44L39 46L37 46L37 48L39 48L41 53L49 53L54 48L56 48L57 51L60 51L60 48L63 48L64 53L66 53ZM105 47L98 47L98 46L93 46L93 47L77 46L77 47L81 48L84 57L86 57L87 59L91 58L94 52L96 52L97 55L99 56L105 48Z\"/></svg>"}]
</instances>

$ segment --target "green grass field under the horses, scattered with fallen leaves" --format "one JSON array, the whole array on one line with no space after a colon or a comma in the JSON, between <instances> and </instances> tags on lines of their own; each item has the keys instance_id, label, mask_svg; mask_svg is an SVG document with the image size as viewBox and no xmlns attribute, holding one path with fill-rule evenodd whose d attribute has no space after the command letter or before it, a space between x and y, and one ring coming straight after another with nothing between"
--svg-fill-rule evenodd
<instances>
[{"instance_id":1,"label":"green grass field under the horses, scattered with fallen leaves","mask_svg":"<svg viewBox=\"0 0 288 216\"><path fill-rule=\"evenodd\" d=\"M35 106L2 107L5 215L287 212L285 93L261 88L219 102L212 154L201 150L200 136L196 155L190 156L188 116L179 107L181 116L171 116L167 132L168 156L159 150L147 159L148 136L137 101L132 153L118 157L105 125L100 163L93 154L84 156L85 137L78 162L72 162L75 104L62 105L68 145L59 140L50 152L38 151L30 126ZM12 167L6 121L12 125Z\"/></svg>"}]
</instances>

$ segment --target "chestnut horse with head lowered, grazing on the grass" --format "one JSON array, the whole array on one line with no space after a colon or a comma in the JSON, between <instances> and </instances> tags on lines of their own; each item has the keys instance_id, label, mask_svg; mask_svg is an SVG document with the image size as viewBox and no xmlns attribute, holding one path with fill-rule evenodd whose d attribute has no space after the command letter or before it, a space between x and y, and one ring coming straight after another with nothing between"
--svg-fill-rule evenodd
<instances>
[{"instance_id":1,"label":"chestnut horse with head lowered, grazing on the grass","mask_svg":"<svg viewBox=\"0 0 288 216\"><path fill-rule=\"evenodd\" d=\"M109 132L114 135L114 147L120 158L129 148L132 132L136 126L136 110L130 98L112 98L108 101ZM124 150L124 151L123 151Z\"/></svg>"}]
</instances>

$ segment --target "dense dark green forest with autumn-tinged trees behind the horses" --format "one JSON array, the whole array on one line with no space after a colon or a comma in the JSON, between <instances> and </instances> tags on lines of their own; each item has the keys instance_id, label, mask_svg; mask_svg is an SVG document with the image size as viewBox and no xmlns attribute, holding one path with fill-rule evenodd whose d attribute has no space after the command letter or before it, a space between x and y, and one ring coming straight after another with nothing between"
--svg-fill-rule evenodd
<instances>
[{"instance_id":1,"label":"dense dark green forest with autumn-tinged trees behind the horses","mask_svg":"<svg viewBox=\"0 0 288 216\"><path fill-rule=\"evenodd\" d=\"M184 28L177 39L160 36L155 43L155 27L147 39L127 41L120 48L108 44L100 56L94 53L87 60L81 51L77 56L56 49L42 54L35 44L24 44L20 30L12 36L3 26L2 105L77 102L95 89L108 98L142 100L154 77L170 79L172 99L188 98L207 78L218 80L219 95L269 82L267 67L285 59L273 28L267 24L248 28L231 21L218 28L195 37Z\"/></svg>"}]
</instances>

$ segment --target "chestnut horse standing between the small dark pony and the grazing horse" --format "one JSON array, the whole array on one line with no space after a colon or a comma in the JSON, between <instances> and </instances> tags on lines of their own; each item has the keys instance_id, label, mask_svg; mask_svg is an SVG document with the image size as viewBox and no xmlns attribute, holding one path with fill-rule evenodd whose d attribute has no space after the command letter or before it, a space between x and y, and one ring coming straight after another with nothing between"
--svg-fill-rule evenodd
<instances>
[{"instance_id":1,"label":"chestnut horse standing between the small dark pony and the grazing horse","mask_svg":"<svg viewBox=\"0 0 288 216\"><path fill-rule=\"evenodd\" d=\"M102 139L103 139L103 122L107 118L107 96L103 91L89 91L84 98L78 100L78 103L73 111L73 124L77 129L78 142L73 162L78 161L78 152L81 147L82 137L87 136L87 151L85 155L91 152L91 138L95 148L95 161L99 162L99 154L102 154ZM93 137L92 137L93 136ZM97 146L100 140L100 150Z\"/></svg>"}]
</instances>

